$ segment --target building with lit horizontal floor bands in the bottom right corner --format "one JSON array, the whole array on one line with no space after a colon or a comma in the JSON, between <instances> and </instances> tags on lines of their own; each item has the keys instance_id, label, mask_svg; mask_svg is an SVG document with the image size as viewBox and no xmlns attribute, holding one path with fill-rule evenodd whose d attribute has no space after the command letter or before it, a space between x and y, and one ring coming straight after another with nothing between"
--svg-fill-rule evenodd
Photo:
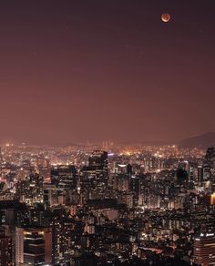
<instances>
[{"instance_id":1,"label":"building with lit horizontal floor bands in the bottom right corner","mask_svg":"<svg viewBox=\"0 0 215 266\"><path fill-rule=\"evenodd\" d=\"M201 233L194 240L194 262L201 266L215 265L215 234Z\"/></svg>"}]
</instances>

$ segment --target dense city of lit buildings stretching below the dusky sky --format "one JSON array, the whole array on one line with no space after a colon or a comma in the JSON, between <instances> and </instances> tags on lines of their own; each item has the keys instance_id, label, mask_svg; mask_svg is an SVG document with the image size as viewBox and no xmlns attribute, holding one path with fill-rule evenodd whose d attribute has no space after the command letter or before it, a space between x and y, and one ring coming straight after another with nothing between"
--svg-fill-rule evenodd
<instances>
[{"instance_id":1,"label":"dense city of lit buildings stretching below the dusky sky","mask_svg":"<svg viewBox=\"0 0 215 266\"><path fill-rule=\"evenodd\" d=\"M215 148L1 148L0 265L213 265Z\"/></svg>"}]
</instances>

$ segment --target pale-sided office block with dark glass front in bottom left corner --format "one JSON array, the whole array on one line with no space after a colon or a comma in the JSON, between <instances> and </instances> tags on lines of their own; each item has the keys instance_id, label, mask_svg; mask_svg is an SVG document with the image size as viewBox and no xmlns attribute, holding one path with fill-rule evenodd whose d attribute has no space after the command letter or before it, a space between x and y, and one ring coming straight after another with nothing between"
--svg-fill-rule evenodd
<instances>
[{"instance_id":1,"label":"pale-sided office block with dark glass front in bottom left corner","mask_svg":"<svg viewBox=\"0 0 215 266\"><path fill-rule=\"evenodd\" d=\"M50 227L15 228L15 265L51 265L51 262Z\"/></svg>"}]
</instances>

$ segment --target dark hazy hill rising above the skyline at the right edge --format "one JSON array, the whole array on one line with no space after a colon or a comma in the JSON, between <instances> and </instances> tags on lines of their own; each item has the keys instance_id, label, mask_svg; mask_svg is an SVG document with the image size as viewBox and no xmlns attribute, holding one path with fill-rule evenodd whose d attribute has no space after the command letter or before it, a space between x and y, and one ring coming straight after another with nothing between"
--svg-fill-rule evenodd
<instances>
[{"instance_id":1,"label":"dark hazy hill rising above the skyline at the right edge","mask_svg":"<svg viewBox=\"0 0 215 266\"><path fill-rule=\"evenodd\" d=\"M208 132L199 136L185 138L180 141L178 145L181 148L208 148L210 146L215 146L215 132Z\"/></svg>"}]
</instances>

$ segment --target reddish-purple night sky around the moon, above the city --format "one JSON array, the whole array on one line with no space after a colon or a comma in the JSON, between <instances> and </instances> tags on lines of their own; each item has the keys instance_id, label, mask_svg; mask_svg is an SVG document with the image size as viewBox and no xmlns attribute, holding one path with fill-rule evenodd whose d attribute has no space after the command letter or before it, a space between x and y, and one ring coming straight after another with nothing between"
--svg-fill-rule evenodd
<instances>
[{"instance_id":1,"label":"reddish-purple night sky around the moon, above the city","mask_svg":"<svg viewBox=\"0 0 215 266\"><path fill-rule=\"evenodd\" d=\"M214 70L214 0L0 1L0 140L215 131Z\"/></svg>"}]
</instances>

